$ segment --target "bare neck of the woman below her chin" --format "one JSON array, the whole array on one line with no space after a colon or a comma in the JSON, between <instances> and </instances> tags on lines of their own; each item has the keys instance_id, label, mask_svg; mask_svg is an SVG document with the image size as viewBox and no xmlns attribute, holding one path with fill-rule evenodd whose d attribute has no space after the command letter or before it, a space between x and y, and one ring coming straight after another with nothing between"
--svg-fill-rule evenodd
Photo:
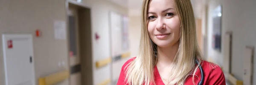
<instances>
[{"instance_id":1,"label":"bare neck of the woman below her chin","mask_svg":"<svg viewBox=\"0 0 256 85\"><path fill-rule=\"evenodd\" d=\"M175 45L161 48L157 46L157 63L161 65L172 65L173 59L179 48L179 42Z\"/></svg>"}]
</instances>

